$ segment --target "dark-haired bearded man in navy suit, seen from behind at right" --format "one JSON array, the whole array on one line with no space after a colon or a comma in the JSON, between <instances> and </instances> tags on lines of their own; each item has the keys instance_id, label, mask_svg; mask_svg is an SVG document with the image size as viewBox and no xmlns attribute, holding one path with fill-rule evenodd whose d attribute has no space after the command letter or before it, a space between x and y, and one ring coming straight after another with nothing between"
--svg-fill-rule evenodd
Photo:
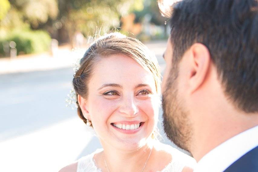
<instances>
[{"instance_id":1,"label":"dark-haired bearded man in navy suit, seen from behind at right","mask_svg":"<svg viewBox=\"0 0 258 172\"><path fill-rule=\"evenodd\" d=\"M258 171L258 1L183 0L170 14L167 136L196 172Z\"/></svg>"}]
</instances>

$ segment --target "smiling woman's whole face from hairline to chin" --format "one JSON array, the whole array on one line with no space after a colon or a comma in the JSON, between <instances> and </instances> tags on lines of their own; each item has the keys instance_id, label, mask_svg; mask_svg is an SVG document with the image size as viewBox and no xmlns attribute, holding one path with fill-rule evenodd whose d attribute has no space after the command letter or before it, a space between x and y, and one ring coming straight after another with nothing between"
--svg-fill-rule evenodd
<instances>
[{"instance_id":1,"label":"smiling woman's whole face from hairline to chin","mask_svg":"<svg viewBox=\"0 0 258 172\"><path fill-rule=\"evenodd\" d=\"M85 103L102 144L134 149L145 144L158 119L153 75L124 55L103 58L95 67Z\"/></svg>"}]
</instances>

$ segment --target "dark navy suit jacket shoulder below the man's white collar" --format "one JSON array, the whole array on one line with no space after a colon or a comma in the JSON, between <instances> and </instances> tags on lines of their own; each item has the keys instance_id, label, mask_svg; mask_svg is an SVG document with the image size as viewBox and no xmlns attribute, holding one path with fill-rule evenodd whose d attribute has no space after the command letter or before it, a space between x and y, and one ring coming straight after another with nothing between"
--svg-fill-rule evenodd
<instances>
[{"instance_id":1,"label":"dark navy suit jacket shoulder below the man's white collar","mask_svg":"<svg viewBox=\"0 0 258 172\"><path fill-rule=\"evenodd\" d=\"M258 146L236 160L224 172L258 172Z\"/></svg>"}]
</instances>

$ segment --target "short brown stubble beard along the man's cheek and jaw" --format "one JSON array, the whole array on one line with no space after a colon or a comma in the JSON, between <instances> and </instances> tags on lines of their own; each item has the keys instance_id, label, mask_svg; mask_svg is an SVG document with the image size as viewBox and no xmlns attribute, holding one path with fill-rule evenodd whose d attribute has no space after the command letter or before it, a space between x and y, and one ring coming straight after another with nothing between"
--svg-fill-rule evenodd
<instances>
[{"instance_id":1,"label":"short brown stubble beard along the man's cheek and jaw","mask_svg":"<svg viewBox=\"0 0 258 172\"><path fill-rule=\"evenodd\" d=\"M167 137L178 147L190 152L192 126L184 101L178 95L178 68L173 66L162 93L163 127Z\"/></svg>"}]
</instances>

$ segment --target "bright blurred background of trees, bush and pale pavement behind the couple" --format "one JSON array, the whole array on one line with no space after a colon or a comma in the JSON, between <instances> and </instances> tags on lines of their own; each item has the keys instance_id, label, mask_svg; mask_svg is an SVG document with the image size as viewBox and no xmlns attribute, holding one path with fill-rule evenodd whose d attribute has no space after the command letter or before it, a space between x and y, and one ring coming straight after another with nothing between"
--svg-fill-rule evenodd
<instances>
[{"instance_id":1,"label":"bright blurred background of trees, bush and pale pavement behind the couple","mask_svg":"<svg viewBox=\"0 0 258 172\"><path fill-rule=\"evenodd\" d=\"M156 0L0 0L0 171L54 172L101 148L66 107L78 48L119 31L143 41L164 71L167 20Z\"/></svg>"}]
</instances>

